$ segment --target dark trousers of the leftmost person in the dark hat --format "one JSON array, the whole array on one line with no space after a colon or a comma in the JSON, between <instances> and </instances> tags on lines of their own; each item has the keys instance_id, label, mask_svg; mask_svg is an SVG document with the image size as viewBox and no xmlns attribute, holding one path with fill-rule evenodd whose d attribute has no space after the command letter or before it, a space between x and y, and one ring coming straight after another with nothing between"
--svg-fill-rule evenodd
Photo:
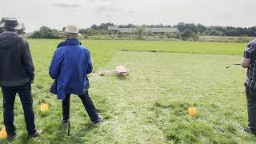
<instances>
[{"instance_id":1,"label":"dark trousers of the leftmost person in the dark hat","mask_svg":"<svg viewBox=\"0 0 256 144\"><path fill-rule=\"evenodd\" d=\"M27 133L30 135L34 134L36 130L34 126L33 99L31 94L30 83L26 83L22 86L2 87L3 118L4 124L6 126L6 132L9 135L16 134L16 129L14 126L14 101L17 93L22 102Z\"/></svg>"}]
</instances>

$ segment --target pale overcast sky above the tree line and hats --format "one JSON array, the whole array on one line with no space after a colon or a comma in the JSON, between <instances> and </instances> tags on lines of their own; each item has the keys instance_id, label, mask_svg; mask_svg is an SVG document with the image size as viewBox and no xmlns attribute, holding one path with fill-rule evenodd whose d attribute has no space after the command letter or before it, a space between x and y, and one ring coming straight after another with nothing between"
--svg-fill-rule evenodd
<instances>
[{"instance_id":1,"label":"pale overcast sky above the tree line and hats","mask_svg":"<svg viewBox=\"0 0 256 144\"><path fill-rule=\"evenodd\" d=\"M2 0L0 17L18 18L27 32L102 22L256 26L255 6L256 0Z\"/></svg>"}]
</instances>

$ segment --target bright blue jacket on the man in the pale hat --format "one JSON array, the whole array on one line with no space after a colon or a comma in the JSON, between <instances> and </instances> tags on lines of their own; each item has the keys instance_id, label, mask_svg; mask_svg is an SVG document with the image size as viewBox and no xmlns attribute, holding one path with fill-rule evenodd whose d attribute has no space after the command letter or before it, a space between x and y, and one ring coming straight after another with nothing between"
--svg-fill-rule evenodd
<instances>
[{"instance_id":1,"label":"bright blue jacket on the man in the pale hat","mask_svg":"<svg viewBox=\"0 0 256 144\"><path fill-rule=\"evenodd\" d=\"M50 64L49 74L55 79L50 92L57 94L58 99L64 99L66 94L85 94L89 88L86 74L92 69L90 51L77 38L67 39L56 50Z\"/></svg>"}]
</instances>

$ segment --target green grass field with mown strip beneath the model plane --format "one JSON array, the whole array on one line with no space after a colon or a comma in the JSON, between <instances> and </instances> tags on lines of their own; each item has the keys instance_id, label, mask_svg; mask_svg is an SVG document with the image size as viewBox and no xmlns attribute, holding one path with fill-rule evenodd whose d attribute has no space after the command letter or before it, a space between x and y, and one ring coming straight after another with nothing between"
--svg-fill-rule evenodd
<instances>
[{"instance_id":1,"label":"green grass field with mown strip beneath the model plane","mask_svg":"<svg viewBox=\"0 0 256 144\"><path fill-rule=\"evenodd\" d=\"M26 139L19 98L15 104L18 136L12 143L254 143L245 134L246 70L226 69L240 61L246 44L164 41L83 41L89 47L95 73L90 74L90 97L105 119L90 123L79 98L72 97L71 134L62 126L61 102L50 94L48 66L59 40L29 40L36 67L33 84L36 125L44 133ZM98 68L123 64L126 78L99 77ZM0 94L2 113L2 94ZM41 102L50 103L42 116ZM191 117L186 109L198 108ZM1 114L2 115L2 114ZM0 127L3 127L2 118Z\"/></svg>"}]
</instances>

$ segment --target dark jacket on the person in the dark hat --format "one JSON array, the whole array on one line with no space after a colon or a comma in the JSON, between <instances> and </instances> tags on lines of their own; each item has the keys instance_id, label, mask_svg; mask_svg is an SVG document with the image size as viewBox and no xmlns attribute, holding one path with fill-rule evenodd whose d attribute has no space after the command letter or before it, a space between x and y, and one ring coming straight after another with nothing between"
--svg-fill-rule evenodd
<instances>
[{"instance_id":1,"label":"dark jacket on the person in the dark hat","mask_svg":"<svg viewBox=\"0 0 256 144\"><path fill-rule=\"evenodd\" d=\"M28 42L14 32L0 34L0 86L22 86L33 80Z\"/></svg>"}]
</instances>

